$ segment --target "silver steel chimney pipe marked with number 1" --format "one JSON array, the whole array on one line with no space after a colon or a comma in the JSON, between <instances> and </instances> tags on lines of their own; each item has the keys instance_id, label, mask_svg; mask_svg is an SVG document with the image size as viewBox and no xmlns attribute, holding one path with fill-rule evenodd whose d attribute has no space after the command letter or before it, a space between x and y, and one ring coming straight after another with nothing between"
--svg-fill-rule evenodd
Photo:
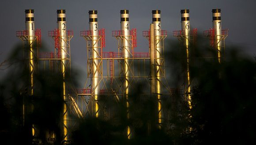
<instances>
[{"instance_id":1,"label":"silver steel chimney pipe marked with number 1","mask_svg":"<svg viewBox=\"0 0 256 145\"><path fill-rule=\"evenodd\" d=\"M35 48L34 40L35 40L35 23L34 23L34 10L25 10L26 15L26 31L28 34L28 47L29 47L29 95L34 95L34 75L36 72L38 51ZM35 135L34 124L32 127L32 135Z\"/></svg>"}]
</instances>

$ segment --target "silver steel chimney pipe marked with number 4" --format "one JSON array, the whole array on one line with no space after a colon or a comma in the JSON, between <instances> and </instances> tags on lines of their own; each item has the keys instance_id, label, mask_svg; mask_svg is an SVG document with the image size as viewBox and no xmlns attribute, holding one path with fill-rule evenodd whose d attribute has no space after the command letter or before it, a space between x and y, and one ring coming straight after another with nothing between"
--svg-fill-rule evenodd
<instances>
[{"instance_id":1,"label":"silver steel chimney pipe marked with number 4","mask_svg":"<svg viewBox=\"0 0 256 145\"><path fill-rule=\"evenodd\" d=\"M121 24L121 31L123 31L123 47L121 48L121 54L124 58L124 61L122 62L122 70L124 72L124 99L126 100L126 107L127 107L127 118L130 118L130 112L129 112L129 108L130 108L130 104L129 104L129 98L128 98L128 94L129 94L129 85L130 85L130 73L129 73L129 69L130 69L130 60L127 58L131 58L131 51L132 48L130 47L129 44L129 35L130 35L130 31L129 31L129 10L121 10L120 11L121 14L121 18L120 18L120 24ZM127 127L127 137L128 139L131 138L131 128L128 126Z\"/></svg>"}]
</instances>

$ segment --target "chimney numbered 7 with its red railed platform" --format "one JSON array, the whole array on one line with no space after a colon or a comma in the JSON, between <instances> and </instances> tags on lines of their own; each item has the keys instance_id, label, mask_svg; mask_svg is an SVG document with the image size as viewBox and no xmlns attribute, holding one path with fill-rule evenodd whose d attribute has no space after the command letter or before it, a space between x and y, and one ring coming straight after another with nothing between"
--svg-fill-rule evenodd
<instances>
[{"instance_id":1,"label":"chimney numbered 7 with its red railed platform","mask_svg":"<svg viewBox=\"0 0 256 145\"><path fill-rule=\"evenodd\" d=\"M212 29L203 31L204 36L209 37L211 47L215 47L218 62L221 63L225 56L225 39L228 29L222 30L221 9L212 9Z\"/></svg>"}]
</instances>

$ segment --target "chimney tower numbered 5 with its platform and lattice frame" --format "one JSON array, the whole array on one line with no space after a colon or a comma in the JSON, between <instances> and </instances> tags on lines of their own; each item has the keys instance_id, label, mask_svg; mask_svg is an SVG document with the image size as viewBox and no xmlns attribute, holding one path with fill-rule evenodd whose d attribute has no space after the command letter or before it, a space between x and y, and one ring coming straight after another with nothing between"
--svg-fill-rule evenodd
<instances>
[{"instance_id":1,"label":"chimney tower numbered 5 with its platform and lattice frame","mask_svg":"<svg viewBox=\"0 0 256 145\"><path fill-rule=\"evenodd\" d=\"M165 78L164 69L164 39L167 36L165 30L161 30L161 11L152 11L152 24L150 31L143 31L143 36L149 40L150 44L150 83L151 96L157 98L157 124L162 128L164 123L163 101L164 97L172 94Z\"/></svg>"}]
</instances>

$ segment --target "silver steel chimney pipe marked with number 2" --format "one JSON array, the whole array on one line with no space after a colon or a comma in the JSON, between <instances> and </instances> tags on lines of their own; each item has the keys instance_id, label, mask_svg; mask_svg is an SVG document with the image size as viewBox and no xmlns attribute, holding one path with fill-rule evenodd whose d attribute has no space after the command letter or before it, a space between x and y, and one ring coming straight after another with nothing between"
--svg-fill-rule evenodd
<instances>
[{"instance_id":1,"label":"silver steel chimney pipe marked with number 2","mask_svg":"<svg viewBox=\"0 0 256 145\"><path fill-rule=\"evenodd\" d=\"M66 104L66 101L68 101L68 94L67 94L67 84L65 82L66 76L68 74L68 66L70 62L70 57L69 57L69 50L67 50L67 42L66 42L66 10L57 10L57 28L60 31L60 71L63 76L63 99L64 99L64 106L63 106L63 137L64 141L70 140L68 136L68 105Z\"/></svg>"}]
</instances>

